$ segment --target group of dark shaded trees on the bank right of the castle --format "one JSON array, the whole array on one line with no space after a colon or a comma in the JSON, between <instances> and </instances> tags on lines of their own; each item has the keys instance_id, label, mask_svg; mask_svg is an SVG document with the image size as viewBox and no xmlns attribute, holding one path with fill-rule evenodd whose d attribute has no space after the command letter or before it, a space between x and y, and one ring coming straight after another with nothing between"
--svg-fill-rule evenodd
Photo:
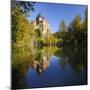
<instances>
[{"instance_id":1,"label":"group of dark shaded trees on the bank right of the castle","mask_svg":"<svg viewBox=\"0 0 90 90\"><path fill-rule=\"evenodd\" d=\"M72 46L87 46L87 9L85 17L81 20L77 15L67 27L62 20L59 31L53 34L58 39L58 43Z\"/></svg>"}]
</instances>

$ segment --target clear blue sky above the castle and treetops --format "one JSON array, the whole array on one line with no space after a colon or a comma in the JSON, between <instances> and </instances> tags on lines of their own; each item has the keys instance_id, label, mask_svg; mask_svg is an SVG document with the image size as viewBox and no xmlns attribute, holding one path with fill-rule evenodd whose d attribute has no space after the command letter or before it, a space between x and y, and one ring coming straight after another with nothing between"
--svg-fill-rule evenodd
<instances>
[{"instance_id":1,"label":"clear blue sky above the castle and treetops","mask_svg":"<svg viewBox=\"0 0 90 90\"><path fill-rule=\"evenodd\" d=\"M86 6L37 2L35 3L34 8L35 11L32 12L29 20L35 20L36 16L41 13L48 21L50 31L54 33L59 30L59 25L62 20L65 21L66 25L69 25L76 15L80 15L82 19L84 17Z\"/></svg>"}]
</instances>

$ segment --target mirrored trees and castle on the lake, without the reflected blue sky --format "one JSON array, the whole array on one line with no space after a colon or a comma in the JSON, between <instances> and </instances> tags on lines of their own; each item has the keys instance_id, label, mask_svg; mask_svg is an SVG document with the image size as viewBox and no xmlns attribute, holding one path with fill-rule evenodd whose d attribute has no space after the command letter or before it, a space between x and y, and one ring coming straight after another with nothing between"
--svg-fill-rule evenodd
<instances>
[{"instance_id":1,"label":"mirrored trees and castle on the lake, without the reflected blue sky","mask_svg":"<svg viewBox=\"0 0 90 90\"><path fill-rule=\"evenodd\" d=\"M20 49L12 53L12 88L28 88L25 84L25 74L30 69L41 75L50 65L50 57L60 58L62 69L70 65L77 73L87 71L87 53L85 48L77 47L43 47ZM87 78L86 78L87 80ZM30 87L29 87L30 88Z\"/></svg>"}]
</instances>

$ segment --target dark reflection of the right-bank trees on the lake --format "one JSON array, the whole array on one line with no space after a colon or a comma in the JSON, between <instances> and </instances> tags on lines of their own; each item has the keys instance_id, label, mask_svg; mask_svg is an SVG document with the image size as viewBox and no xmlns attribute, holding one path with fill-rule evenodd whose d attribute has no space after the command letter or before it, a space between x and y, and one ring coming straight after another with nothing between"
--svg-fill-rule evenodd
<instances>
[{"instance_id":1,"label":"dark reflection of the right-bank trees on the lake","mask_svg":"<svg viewBox=\"0 0 90 90\"><path fill-rule=\"evenodd\" d=\"M55 52L60 57L60 66L64 69L68 64L76 71L87 69L87 51L81 47L63 47Z\"/></svg>"}]
</instances>

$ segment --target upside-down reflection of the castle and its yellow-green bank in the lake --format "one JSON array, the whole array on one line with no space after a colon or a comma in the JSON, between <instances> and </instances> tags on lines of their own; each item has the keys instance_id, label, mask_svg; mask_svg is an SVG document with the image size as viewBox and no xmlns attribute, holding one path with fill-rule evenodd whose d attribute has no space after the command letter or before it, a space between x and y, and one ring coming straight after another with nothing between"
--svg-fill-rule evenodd
<instances>
[{"instance_id":1,"label":"upside-down reflection of the castle and its yellow-green bank in the lake","mask_svg":"<svg viewBox=\"0 0 90 90\"><path fill-rule=\"evenodd\" d=\"M32 63L31 67L36 70L40 75L44 72L50 65L50 57L55 52L56 48L53 47L44 47L43 49L37 49L35 60Z\"/></svg>"}]
</instances>

